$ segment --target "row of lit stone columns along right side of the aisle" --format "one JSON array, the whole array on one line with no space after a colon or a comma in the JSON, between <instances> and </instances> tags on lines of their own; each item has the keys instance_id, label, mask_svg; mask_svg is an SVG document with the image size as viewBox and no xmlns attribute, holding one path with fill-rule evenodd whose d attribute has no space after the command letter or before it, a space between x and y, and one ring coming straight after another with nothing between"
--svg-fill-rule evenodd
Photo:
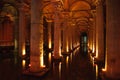
<instances>
[{"instance_id":1,"label":"row of lit stone columns along right side of the aisle","mask_svg":"<svg viewBox=\"0 0 120 80\"><path fill-rule=\"evenodd\" d=\"M120 79L119 0L106 0L105 3L106 7L103 8L102 0L99 0L96 6L95 23L89 32L89 47L98 61L105 62L105 76ZM103 10L105 8L106 13Z\"/></svg>"}]
</instances>

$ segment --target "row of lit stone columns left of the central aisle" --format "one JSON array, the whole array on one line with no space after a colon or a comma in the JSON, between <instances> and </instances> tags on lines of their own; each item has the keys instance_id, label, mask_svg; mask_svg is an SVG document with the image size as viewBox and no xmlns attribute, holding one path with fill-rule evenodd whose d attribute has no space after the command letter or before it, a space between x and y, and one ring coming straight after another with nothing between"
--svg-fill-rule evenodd
<instances>
[{"instance_id":1,"label":"row of lit stone columns left of the central aisle","mask_svg":"<svg viewBox=\"0 0 120 80\"><path fill-rule=\"evenodd\" d=\"M32 0L31 2L31 27L30 27L30 71L37 72L40 71L44 67L43 61L43 14L42 9L40 9L39 4L41 1L36 2ZM24 5L23 5L24 6ZM19 56L22 57L25 55L25 31L26 31L26 16L24 7L21 6L19 9ZM56 4L53 4L56 6ZM57 11L57 10L55 10ZM75 37L76 32L72 32L68 25L63 25L67 27L63 31L63 36L61 35L61 21L59 19L59 12L55 12L54 17L54 48L53 48L53 57L55 59L61 58L61 53L63 47L63 53L68 52L68 50L72 50L72 48L76 47L79 41L78 38ZM48 22L48 47L52 48L52 32L51 28L52 22ZM78 36L77 36L78 37ZM63 44L61 44L61 38L63 38ZM74 38L74 39L73 39ZM76 42L77 41L77 42ZM15 42L16 43L16 42Z\"/></svg>"}]
</instances>

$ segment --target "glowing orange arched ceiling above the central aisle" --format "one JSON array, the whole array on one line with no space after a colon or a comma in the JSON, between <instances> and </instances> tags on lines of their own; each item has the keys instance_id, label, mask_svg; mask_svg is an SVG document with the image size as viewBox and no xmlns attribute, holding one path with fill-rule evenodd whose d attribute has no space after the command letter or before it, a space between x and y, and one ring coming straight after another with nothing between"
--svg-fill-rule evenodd
<instances>
[{"instance_id":1,"label":"glowing orange arched ceiling above the central aisle","mask_svg":"<svg viewBox=\"0 0 120 80\"><path fill-rule=\"evenodd\" d=\"M74 22L77 26L90 26L89 19L91 18L91 7L95 0L58 0L62 1L60 7L60 18L66 21ZM43 8L44 16L47 19L52 19L54 16L53 3L48 0L47 5Z\"/></svg>"}]
</instances>

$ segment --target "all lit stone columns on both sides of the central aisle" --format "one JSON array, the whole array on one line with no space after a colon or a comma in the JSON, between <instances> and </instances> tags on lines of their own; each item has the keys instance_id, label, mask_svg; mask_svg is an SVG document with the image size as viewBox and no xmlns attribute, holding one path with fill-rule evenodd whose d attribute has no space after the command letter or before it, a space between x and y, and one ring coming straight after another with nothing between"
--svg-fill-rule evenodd
<instances>
[{"instance_id":1,"label":"all lit stone columns on both sides of the central aisle","mask_svg":"<svg viewBox=\"0 0 120 80\"><path fill-rule=\"evenodd\" d=\"M39 71L41 67L44 66L43 63L43 23L42 23L42 16L40 15L40 9L38 6L40 2L36 2L35 0L32 0L31 2L31 48L30 48L30 64L31 64L31 71ZM114 6L113 6L114 5ZM106 0L106 75L108 77L112 78L119 78L120 70L119 70L119 0ZM22 9L20 9L22 10ZM92 49L95 49L96 51L96 57L103 61L104 60L104 18L103 16L103 6L102 4L98 4L96 7L96 28L95 32L93 32L93 38L90 42L92 44ZM54 57L59 58L61 55L61 25L59 16L55 15L55 25L54 25ZM24 11L20 11L19 15L19 53L24 53L25 49L25 13ZM51 26L51 25L49 25ZM64 27L67 25L64 25ZM93 25L94 26L94 25ZM69 27L69 26L68 26ZM69 30L70 31L70 30ZM68 33L70 33L68 31ZM71 30L75 31L75 30ZM93 30L94 31L94 30ZM96 34L94 34L96 33ZM76 46L78 37L76 38L74 35L76 35L75 32L73 32L70 36L66 35L67 29L64 30L64 39L63 44L69 45L69 47ZM66 37L67 36L67 37ZM49 28L49 39L51 37L51 30ZM66 39L67 38L67 39ZM96 39L96 40L95 40ZM50 39L51 40L51 39ZM69 41L68 41L69 40ZM94 41L95 40L95 41ZM68 42L68 43L67 43ZM63 45L64 51L66 52L67 48L66 45ZM74 47L75 47L74 46ZM95 48L94 48L95 46Z\"/></svg>"}]
</instances>

